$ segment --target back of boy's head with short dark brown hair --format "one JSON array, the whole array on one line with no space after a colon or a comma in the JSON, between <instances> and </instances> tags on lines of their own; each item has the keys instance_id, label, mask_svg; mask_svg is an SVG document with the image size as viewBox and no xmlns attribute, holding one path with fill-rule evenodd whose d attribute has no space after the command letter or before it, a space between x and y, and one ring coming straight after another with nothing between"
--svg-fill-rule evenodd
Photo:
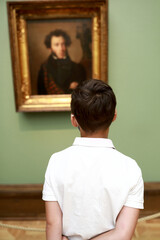
<instances>
[{"instance_id":1,"label":"back of boy's head with short dark brown hair","mask_svg":"<svg viewBox=\"0 0 160 240\"><path fill-rule=\"evenodd\" d=\"M107 129L114 117L116 97L105 82L91 79L72 93L71 112L85 132Z\"/></svg>"}]
</instances>

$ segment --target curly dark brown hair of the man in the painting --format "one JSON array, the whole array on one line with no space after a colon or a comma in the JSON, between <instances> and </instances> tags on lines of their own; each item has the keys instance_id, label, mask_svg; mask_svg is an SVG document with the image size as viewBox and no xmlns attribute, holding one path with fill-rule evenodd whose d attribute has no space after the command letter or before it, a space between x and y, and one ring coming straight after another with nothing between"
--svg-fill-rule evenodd
<instances>
[{"instance_id":1,"label":"curly dark brown hair of the man in the painting","mask_svg":"<svg viewBox=\"0 0 160 240\"><path fill-rule=\"evenodd\" d=\"M66 47L69 47L71 45L71 38L70 38L70 36L65 31L63 31L61 29L56 29L56 30L50 32L46 36L46 38L45 38L44 44L46 45L47 48L51 47L51 38L53 36L55 36L55 37L63 37L64 40L65 40Z\"/></svg>"}]
</instances>

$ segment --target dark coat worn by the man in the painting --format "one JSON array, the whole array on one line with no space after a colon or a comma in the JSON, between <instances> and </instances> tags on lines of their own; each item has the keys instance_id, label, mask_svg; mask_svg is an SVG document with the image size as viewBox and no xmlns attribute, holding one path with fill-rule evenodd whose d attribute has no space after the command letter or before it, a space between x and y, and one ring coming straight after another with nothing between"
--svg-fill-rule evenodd
<instances>
[{"instance_id":1,"label":"dark coat worn by the man in the painting","mask_svg":"<svg viewBox=\"0 0 160 240\"><path fill-rule=\"evenodd\" d=\"M79 84L84 80L86 72L81 64L71 61L69 56L66 59L54 59L51 54L41 65L38 74L38 94L70 94L70 84Z\"/></svg>"}]
</instances>

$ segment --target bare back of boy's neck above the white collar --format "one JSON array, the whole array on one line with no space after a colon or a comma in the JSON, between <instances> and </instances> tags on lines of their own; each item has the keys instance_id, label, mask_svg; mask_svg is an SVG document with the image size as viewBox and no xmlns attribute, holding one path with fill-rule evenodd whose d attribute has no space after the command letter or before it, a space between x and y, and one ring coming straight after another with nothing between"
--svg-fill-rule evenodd
<instances>
[{"instance_id":1,"label":"bare back of boy's neck above the white collar","mask_svg":"<svg viewBox=\"0 0 160 240\"><path fill-rule=\"evenodd\" d=\"M98 130L92 133L87 133L80 129L81 137L88 137L88 138L108 138L109 128L106 130Z\"/></svg>"}]
</instances>

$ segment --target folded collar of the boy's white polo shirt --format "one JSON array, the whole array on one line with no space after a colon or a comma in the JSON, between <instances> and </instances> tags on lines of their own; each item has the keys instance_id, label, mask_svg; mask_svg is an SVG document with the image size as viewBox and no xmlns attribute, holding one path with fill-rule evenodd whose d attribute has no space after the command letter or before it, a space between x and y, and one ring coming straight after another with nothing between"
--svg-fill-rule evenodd
<instances>
[{"instance_id":1,"label":"folded collar of the boy's white polo shirt","mask_svg":"<svg viewBox=\"0 0 160 240\"><path fill-rule=\"evenodd\" d=\"M115 149L112 141L108 138L76 137L73 142L73 146L107 147Z\"/></svg>"}]
</instances>

